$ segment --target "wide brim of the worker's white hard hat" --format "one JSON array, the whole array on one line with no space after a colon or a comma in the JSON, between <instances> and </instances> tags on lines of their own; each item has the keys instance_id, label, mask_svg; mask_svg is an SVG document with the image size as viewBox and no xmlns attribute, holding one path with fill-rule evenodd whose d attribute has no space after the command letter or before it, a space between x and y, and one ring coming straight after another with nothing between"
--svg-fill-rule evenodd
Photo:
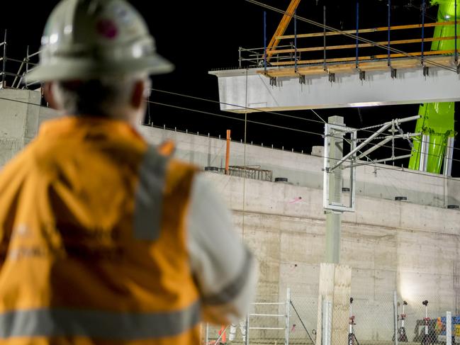
<instances>
[{"instance_id":1,"label":"wide brim of the worker's white hard hat","mask_svg":"<svg viewBox=\"0 0 460 345\"><path fill-rule=\"evenodd\" d=\"M55 63L39 65L26 74L26 83L45 81L66 81L81 79L98 79L111 75L129 75L145 72L146 74L166 74L174 70L174 64L160 55L142 57L130 62L101 62L75 58L56 58Z\"/></svg>"}]
</instances>

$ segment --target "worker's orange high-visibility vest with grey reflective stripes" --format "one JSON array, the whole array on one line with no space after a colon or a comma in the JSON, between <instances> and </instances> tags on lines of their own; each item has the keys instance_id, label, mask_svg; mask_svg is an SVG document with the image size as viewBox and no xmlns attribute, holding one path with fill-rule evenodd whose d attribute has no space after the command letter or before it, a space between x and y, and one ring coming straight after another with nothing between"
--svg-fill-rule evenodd
<instances>
[{"instance_id":1,"label":"worker's orange high-visibility vest with grey reflective stripes","mask_svg":"<svg viewBox=\"0 0 460 345\"><path fill-rule=\"evenodd\" d=\"M121 121L45 123L0 174L0 345L198 344L194 174Z\"/></svg>"}]
</instances>

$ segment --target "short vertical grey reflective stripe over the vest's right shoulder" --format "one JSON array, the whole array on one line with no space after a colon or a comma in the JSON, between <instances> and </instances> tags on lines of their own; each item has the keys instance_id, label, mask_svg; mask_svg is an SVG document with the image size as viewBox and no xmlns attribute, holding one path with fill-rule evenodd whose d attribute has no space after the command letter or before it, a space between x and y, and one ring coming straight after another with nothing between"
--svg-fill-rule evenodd
<instances>
[{"instance_id":1,"label":"short vertical grey reflective stripe over the vest's right shoulder","mask_svg":"<svg viewBox=\"0 0 460 345\"><path fill-rule=\"evenodd\" d=\"M149 146L139 169L135 193L134 235L153 241L162 222L162 202L168 159Z\"/></svg>"}]
</instances>

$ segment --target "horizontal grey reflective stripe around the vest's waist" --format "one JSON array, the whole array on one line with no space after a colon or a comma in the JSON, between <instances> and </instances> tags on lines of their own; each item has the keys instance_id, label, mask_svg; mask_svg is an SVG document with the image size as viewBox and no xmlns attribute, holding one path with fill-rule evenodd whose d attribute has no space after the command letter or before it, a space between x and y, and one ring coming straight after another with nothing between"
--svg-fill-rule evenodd
<instances>
[{"instance_id":1,"label":"horizontal grey reflective stripe around the vest's waist","mask_svg":"<svg viewBox=\"0 0 460 345\"><path fill-rule=\"evenodd\" d=\"M177 336L200 322L198 302L184 310L156 313L72 309L17 310L0 314L0 338L87 336L113 340Z\"/></svg>"}]
</instances>

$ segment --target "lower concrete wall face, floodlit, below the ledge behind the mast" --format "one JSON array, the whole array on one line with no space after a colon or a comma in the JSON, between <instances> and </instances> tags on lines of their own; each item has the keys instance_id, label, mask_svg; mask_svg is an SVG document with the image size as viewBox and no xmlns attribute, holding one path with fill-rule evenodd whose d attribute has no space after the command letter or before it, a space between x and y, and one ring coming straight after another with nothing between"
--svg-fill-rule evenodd
<instances>
[{"instance_id":1,"label":"lower concrete wall face, floodlit, below the ledge behind the mast","mask_svg":"<svg viewBox=\"0 0 460 345\"><path fill-rule=\"evenodd\" d=\"M259 259L259 298L283 300L291 288L303 322L315 328L325 251L321 191L207 174ZM458 310L459 221L456 210L357 198L357 211L343 217L341 263L352 266L351 295L361 340L391 340L393 290L409 302L411 337L423 317L422 300L430 300L430 317Z\"/></svg>"}]
</instances>

